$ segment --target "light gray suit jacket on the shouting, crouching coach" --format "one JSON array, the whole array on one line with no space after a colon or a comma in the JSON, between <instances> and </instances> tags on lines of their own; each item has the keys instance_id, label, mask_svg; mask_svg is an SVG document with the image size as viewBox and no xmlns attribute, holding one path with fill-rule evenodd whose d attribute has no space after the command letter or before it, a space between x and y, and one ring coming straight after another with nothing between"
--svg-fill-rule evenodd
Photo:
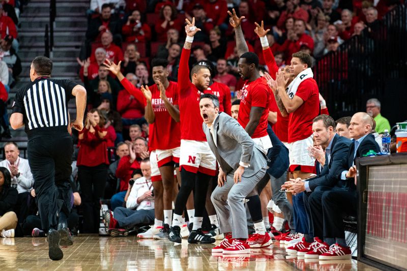
<instances>
[{"instance_id":1,"label":"light gray suit jacket on the shouting, crouching coach","mask_svg":"<svg viewBox=\"0 0 407 271\"><path fill-rule=\"evenodd\" d=\"M243 127L228 114L220 112L213 124L214 139L205 123L203 132L207 136L209 147L214 153L223 172L229 173L239 167L239 162L250 164L245 168L243 177L251 177L266 167L267 158ZM215 142L217 146L215 145Z\"/></svg>"}]
</instances>

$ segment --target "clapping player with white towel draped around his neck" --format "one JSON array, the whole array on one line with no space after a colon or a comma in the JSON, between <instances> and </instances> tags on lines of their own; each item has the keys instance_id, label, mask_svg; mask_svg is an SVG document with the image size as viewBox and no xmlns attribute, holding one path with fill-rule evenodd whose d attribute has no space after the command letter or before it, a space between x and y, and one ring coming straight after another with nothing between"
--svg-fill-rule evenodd
<instances>
[{"instance_id":1,"label":"clapping player with white towel draped around his neck","mask_svg":"<svg viewBox=\"0 0 407 271\"><path fill-rule=\"evenodd\" d=\"M289 113L288 149L290 171L294 178L306 179L314 171L314 158L308 155L307 147L312 145L312 119L319 114L319 91L311 70L312 61L309 54L297 52L293 54L290 72L296 78L289 84L281 71L276 82L270 78L275 92L280 97L284 108Z\"/></svg>"}]
</instances>

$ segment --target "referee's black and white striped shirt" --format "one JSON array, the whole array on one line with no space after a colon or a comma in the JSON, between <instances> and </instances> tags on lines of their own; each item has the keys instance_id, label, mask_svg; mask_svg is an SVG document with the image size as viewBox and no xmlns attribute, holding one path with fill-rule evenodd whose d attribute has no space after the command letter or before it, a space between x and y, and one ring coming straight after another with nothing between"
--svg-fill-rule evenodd
<instances>
[{"instance_id":1,"label":"referee's black and white striped shirt","mask_svg":"<svg viewBox=\"0 0 407 271\"><path fill-rule=\"evenodd\" d=\"M68 102L77 83L70 80L37 78L16 94L12 112L22 113L25 131L67 127Z\"/></svg>"}]
</instances>

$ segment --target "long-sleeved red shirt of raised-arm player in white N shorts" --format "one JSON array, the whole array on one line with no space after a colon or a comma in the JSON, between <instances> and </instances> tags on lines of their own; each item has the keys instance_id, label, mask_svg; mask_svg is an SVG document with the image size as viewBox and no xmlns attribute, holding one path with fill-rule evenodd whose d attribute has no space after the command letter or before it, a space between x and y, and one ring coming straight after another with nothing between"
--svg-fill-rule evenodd
<instances>
[{"instance_id":1,"label":"long-sleeved red shirt of raised-arm player in white N shorts","mask_svg":"<svg viewBox=\"0 0 407 271\"><path fill-rule=\"evenodd\" d=\"M188 60L190 54L190 49L182 49L180 69L178 70L181 139L207 141L202 130L203 121L199 111L199 97L202 93L189 80ZM211 91L205 90L203 93L211 93Z\"/></svg>"}]
</instances>

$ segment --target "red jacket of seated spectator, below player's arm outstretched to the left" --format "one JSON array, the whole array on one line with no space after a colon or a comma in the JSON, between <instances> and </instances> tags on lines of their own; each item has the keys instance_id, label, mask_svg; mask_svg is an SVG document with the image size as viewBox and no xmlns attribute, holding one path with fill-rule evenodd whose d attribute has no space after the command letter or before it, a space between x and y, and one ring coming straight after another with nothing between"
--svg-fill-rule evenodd
<instances>
[{"instance_id":1,"label":"red jacket of seated spectator, below player's arm outstretched to the left","mask_svg":"<svg viewBox=\"0 0 407 271\"><path fill-rule=\"evenodd\" d=\"M124 78L121 81L123 86L125 86L124 82L123 82L125 80L127 80L127 79ZM129 82L129 81L127 80L127 82ZM129 82L129 84L131 84L131 83ZM131 95L129 92L130 92L129 89L127 89L127 91L119 92L118 104L117 104L118 112L122 115L122 118L143 117L144 116L144 96L142 95L142 93L139 89L138 89L138 92L132 92Z\"/></svg>"}]
</instances>

